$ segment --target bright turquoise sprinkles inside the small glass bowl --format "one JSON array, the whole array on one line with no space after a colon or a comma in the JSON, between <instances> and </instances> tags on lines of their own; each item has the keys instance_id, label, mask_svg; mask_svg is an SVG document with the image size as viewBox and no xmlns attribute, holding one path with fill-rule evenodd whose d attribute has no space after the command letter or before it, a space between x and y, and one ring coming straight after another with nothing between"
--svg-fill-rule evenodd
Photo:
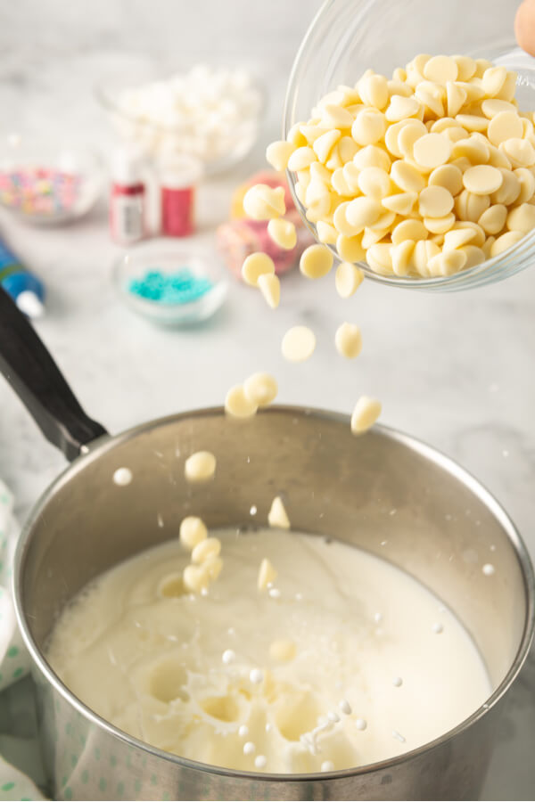
<instances>
[{"instance_id":1,"label":"bright turquoise sprinkles inside the small glass bowl","mask_svg":"<svg viewBox=\"0 0 535 802\"><path fill-rule=\"evenodd\" d=\"M149 269L141 279L132 279L128 291L159 304L191 304L213 287L208 278L197 278L188 267L176 273Z\"/></svg>"}]
</instances>

